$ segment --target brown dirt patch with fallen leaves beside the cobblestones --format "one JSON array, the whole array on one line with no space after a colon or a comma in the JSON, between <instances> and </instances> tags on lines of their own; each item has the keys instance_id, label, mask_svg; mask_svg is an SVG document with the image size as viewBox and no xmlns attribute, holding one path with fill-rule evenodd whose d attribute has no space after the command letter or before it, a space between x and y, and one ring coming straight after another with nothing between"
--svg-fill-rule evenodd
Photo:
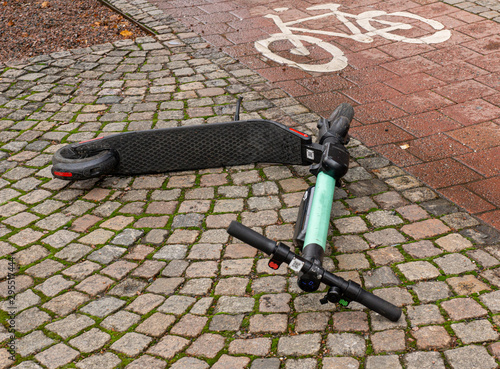
<instances>
[{"instance_id":1,"label":"brown dirt patch with fallen leaves beside the cobblestones","mask_svg":"<svg viewBox=\"0 0 500 369\"><path fill-rule=\"evenodd\" d=\"M0 62L142 36L97 0L0 0Z\"/></svg>"}]
</instances>

